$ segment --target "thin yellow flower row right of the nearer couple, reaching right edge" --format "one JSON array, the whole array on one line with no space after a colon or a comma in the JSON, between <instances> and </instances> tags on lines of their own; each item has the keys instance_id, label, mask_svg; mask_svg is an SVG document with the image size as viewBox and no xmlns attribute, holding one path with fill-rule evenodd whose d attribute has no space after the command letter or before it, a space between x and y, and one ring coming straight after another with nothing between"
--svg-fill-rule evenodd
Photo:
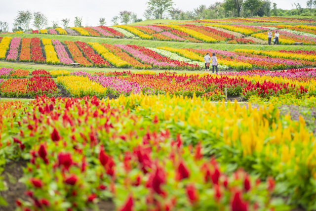
<instances>
[{"instance_id":1,"label":"thin yellow flower row right of the nearer couple, reaching right edge","mask_svg":"<svg viewBox=\"0 0 316 211\"><path fill-rule=\"evenodd\" d=\"M253 49L234 49L235 52L251 53L255 55L264 55L269 57L283 58L283 59L302 59L306 61L316 61L316 55L306 54L294 54L294 53L283 53L279 51L263 51Z\"/></svg>"}]
</instances>

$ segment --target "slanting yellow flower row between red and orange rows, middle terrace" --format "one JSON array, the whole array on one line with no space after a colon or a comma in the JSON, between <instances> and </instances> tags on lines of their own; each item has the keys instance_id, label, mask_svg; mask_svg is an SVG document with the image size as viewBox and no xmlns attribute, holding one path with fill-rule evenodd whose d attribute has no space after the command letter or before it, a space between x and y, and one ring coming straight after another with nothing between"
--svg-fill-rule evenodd
<instances>
[{"instance_id":1,"label":"slanting yellow flower row between red and orange rows, middle terrace","mask_svg":"<svg viewBox=\"0 0 316 211\"><path fill-rule=\"evenodd\" d=\"M98 42L88 42L91 47L97 51L104 59L109 61L112 65L118 68L124 68L131 66L128 62L122 60L118 56L111 53L108 49L106 49L103 45Z\"/></svg>"}]
</instances>

